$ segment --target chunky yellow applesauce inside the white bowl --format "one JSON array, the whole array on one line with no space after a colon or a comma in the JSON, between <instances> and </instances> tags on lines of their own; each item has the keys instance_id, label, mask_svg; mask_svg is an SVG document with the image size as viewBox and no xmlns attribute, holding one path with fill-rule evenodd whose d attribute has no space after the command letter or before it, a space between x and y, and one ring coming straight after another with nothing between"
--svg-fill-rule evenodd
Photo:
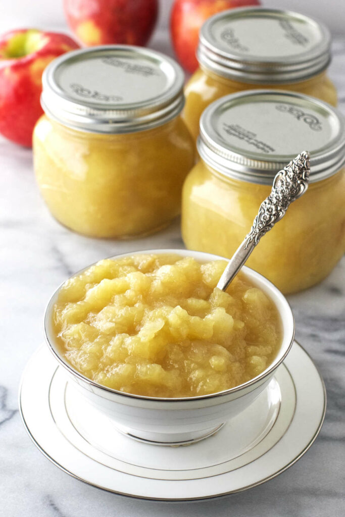
<instances>
[{"instance_id":1,"label":"chunky yellow applesauce inside the white bowl","mask_svg":"<svg viewBox=\"0 0 345 517\"><path fill-rule=\"evenodd\" d=\"M226 261L177 254L102 260L67 280L53 309L59 350L98 384L147 397L194 397L238 386L272 363L278 311Z\"/></svg>"}]
</instances>

